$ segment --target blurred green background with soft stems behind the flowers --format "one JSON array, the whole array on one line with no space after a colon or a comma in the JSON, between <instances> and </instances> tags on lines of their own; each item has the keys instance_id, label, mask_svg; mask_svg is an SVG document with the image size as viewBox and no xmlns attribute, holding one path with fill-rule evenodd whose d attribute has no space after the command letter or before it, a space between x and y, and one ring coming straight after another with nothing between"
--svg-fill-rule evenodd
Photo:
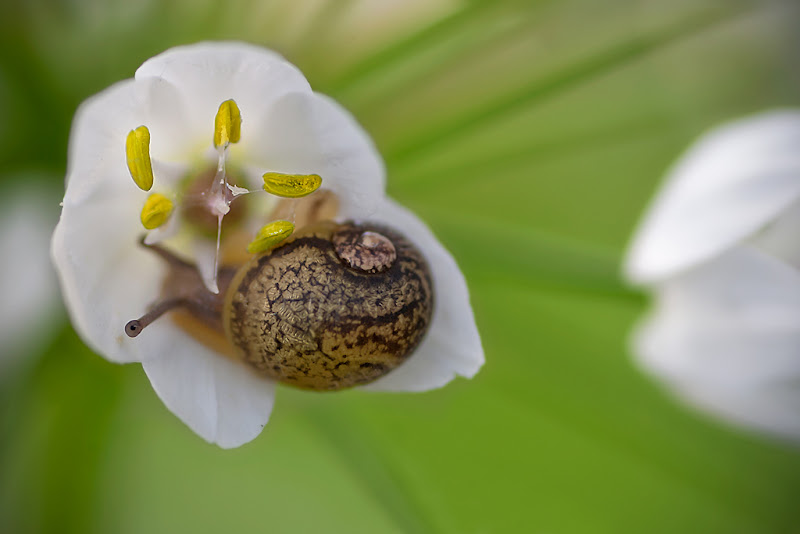
<instances>
[{"instance_id":1,"label":"blurred green background with soft stems behind the flowers","mask_svg":"<svg viewBox=\"0 0 800 534\"><path fill-rule=\"evenodd\" d=\"M62 187L77 105L148 57L271 46L357 116L458 259L483 370L424 394L280 388L223 451L62 315L0 380L0 532L800 531L797 450L641 374L647 301L618 274L698 135L800 103L795 2L364 3L4 0L0 185Z\"/></svg>"}]
</instances>

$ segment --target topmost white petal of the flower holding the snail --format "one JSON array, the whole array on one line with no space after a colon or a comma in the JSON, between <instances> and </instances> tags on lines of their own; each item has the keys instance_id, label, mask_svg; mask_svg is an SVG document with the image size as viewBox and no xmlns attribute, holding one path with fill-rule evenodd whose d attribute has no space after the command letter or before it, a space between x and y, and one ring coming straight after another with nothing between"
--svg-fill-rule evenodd
<instances>
[{"instance_id":1,"label":"topmost white petal of the flower holding the snail","mask_svg":"<svg viewBox=\"0 0 800 534\"><path fill-rule=\"evenodd\" d=\"M172 117L185 115L185 136L211 144L219 105L234 99L242 114L242 142L251 142L268 120L265 110L287 93L310 92L303 74L283 57L237 42L197 43L171 48L142 64L136 81L159 80L149 90L152 105ZM174 90L173 90L174 88Z\"/></svg>"}]
</instances>

